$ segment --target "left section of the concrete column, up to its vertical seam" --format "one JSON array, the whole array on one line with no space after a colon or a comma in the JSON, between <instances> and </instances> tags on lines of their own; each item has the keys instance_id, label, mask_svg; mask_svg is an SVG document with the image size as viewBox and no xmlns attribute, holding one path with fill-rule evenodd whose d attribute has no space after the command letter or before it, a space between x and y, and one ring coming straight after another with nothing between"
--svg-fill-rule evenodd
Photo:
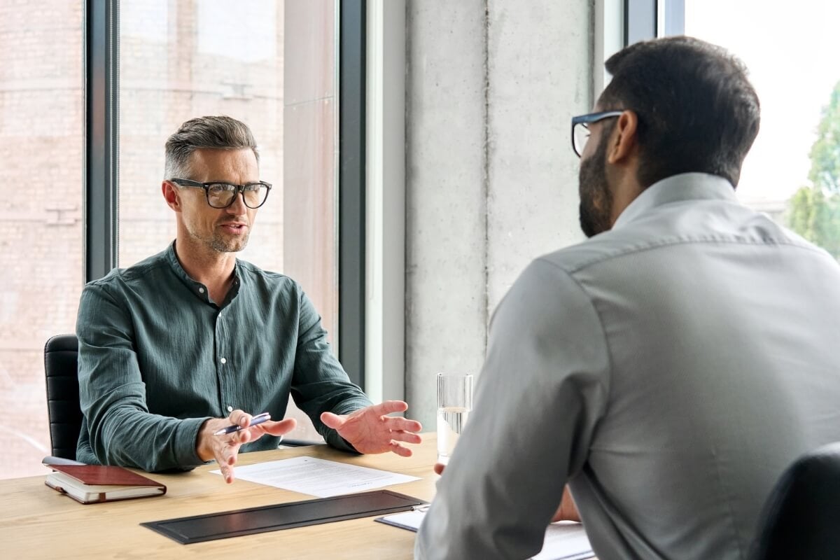
<instances>
[{"instance_id":1,"label":"left section of the concrete column, up to its vertical seam","mask_svg":"<svg viewBox=\"0 0 840 560\"><path fill-rule=\"evenodd\" d=\"M486 329L486 3L407 3L406 395L480 368Z\"/></svg>"}]
</instances>

